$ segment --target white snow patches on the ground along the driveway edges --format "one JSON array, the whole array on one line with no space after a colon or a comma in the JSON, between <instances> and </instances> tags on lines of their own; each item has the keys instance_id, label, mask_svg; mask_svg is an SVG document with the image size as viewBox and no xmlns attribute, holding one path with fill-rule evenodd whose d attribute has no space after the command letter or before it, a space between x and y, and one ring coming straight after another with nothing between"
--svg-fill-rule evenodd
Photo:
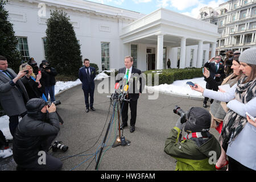
<instances>
[{"instance_id":1,"label":"white snow patches on the ground along the driveway edges","mask_svg":"<svg viewBox=\"0 0 256 182\"><path fill-rule=\"evenodd\" d=\"M99 73L94 80L101 80L102 78L106 77L109 76L105 73ZM188 94L189 96L202 96L201 93L196 92L195 90L191 90L189 85L186 84L187 81L192 81L193 83L199 84L203 88L205 88L206 82L204 81L204 77L174 81L170 85L162 84L159 86L148 86L148 88L150 88L151 90L158 90L167 93ZM57 81L55 85L55 94L79 84L81 84L81 81L79 79L77 79L76 81ZM9 117L7 115L3 115L2 117L0 117L0 130L3 132L6 139L13 139L9 130Z\"/></svg>"}]
</instances>

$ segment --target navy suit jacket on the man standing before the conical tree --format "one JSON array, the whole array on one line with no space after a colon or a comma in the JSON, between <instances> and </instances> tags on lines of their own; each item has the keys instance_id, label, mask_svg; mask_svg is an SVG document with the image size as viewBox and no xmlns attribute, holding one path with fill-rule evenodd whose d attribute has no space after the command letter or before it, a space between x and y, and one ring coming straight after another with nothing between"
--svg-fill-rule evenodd
<instances>
[{"instance_id":1,"label":"navy suit jacket on the man standing before the conical tree","mask_svg":"<svg viewBox=\"0 0 256 182\"><path fill-rule=\"evenodd\" d=\"M94 89L94 78L96 77L96 69L93 67L89 67L90 69L90 83L88 81L88 76L85 71L85 66L79 69L79 79L82 82L82 89L89 90Z\"/></svg>"}]
</instances>

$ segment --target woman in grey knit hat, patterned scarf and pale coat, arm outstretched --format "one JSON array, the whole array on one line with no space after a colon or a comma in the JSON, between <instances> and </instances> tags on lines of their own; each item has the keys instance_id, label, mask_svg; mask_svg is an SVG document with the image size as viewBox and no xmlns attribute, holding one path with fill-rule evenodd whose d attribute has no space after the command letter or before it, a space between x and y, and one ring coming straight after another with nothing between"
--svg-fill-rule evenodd
<instances>
[{"instance_id":1,"label":"woman in grey knit hat, patterned scarf and pale coat, arm outstretched","mask_svg":"<svg viewBox=\"0 0 256 182\"><path fill-rule=\"evenodd\" d=\"M229 156L229 170L255 170L256 129L247 122L246 111L253 117L256 116L256 48L243 51L239 61L243 74L227 92L203 89L198 84L191 88L203 93L204 97L228 102L230 110L224 118L220 142Z\"/></svg>"}]
</instances>

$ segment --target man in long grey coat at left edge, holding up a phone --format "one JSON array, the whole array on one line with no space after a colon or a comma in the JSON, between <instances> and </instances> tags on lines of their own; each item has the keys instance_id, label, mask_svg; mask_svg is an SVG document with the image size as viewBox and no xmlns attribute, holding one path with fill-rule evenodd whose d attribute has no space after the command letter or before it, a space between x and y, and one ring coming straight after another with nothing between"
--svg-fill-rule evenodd
<instances>
[{"instance_id":1,"label":"man in long grey coat at left edge, holding up a phone","mask_svg":"<svg viewBox=\"0 0 256 182\"><path fill-rule=\"evenodd\" d=\"M20 81L26 72L20 71L18 75L13 69L8 68L7 59L0 56L0 103L9 116L9 128L14 135L16 126L19 124L19 116L26 115L25 104L29 100L27 91Z\"/></svg>"}]
</instances>

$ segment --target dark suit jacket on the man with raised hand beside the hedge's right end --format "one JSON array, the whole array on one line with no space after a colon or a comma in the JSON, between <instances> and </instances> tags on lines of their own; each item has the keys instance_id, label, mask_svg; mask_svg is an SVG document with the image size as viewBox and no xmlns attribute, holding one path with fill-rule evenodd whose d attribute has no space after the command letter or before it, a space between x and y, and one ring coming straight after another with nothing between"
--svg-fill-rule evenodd
<instances>
[{"instance_id":1,"label":"dark suit jacket on the man with raised hand beside the hedge's right end","mask_svg":"<svg viewBox=\"0 0 256 182\"><path fill-rule=\"evenodd\" d=\"M216 74L220 74L220 77L216 77L215 81L222 82L225 78L225 72L224 72L224 65L222 63L219 63L218 71L216 72L215 62L205 63L204 67L209 68L210 71L210 77L214 78Z\"/></svg>"}]
</instances>

